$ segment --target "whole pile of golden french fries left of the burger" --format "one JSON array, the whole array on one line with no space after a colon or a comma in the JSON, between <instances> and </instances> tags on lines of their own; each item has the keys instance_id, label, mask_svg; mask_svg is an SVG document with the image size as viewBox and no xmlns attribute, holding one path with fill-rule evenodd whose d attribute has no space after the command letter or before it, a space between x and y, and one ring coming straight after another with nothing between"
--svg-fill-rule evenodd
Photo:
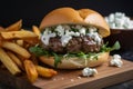
<instances>
[{"instance_id":1,"label":"whole pile of golden french fries left of the burger","mask_svg":"<svg viewBox=\"0 0 133 89\"><path fill-rule=\"evenodd\" d=\"M22 20L7 27L0 27L0 65L12 75L25 72L34 82L39 76L51 78L57 75L53 69L38 65L38 58L29 52L29 48L39 43L40 30L33 26L31 30L22 29Z\"/></svg>"}]
</instances>

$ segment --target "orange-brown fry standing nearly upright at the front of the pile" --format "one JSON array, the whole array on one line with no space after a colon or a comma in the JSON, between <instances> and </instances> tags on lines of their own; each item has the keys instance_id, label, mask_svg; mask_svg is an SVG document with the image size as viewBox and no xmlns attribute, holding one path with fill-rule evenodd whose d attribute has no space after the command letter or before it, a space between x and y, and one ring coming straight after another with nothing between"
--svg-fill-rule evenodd
<instances>
[{"instance_id":1,"label":"orange-brown fry standing nearly upright at the front of the pile","mask_svg":"<svg viewBox=\"0 0 133 89\"><path fill-rule=\"evenodd\" d=\"M25 68L25 72L28 75L28 79L31 82L34 82L38 78L38 72L35 69L35 66L33 65L33 62L31 60L24 60L24 68Z\"/></svg>"}]
</instances>

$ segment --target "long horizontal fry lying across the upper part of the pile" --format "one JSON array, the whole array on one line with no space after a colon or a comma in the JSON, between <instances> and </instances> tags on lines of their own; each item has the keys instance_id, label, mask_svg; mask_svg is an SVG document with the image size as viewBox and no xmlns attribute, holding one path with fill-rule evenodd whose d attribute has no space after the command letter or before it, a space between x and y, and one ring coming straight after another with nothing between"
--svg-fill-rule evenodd
<instances>
[{"instance_id":1,"label":"long horizontal fry lying across the upper part of the pile","mask_svg":"<svg viewBox=\"0 0 133 89\"><path fill-rule=\"evenodd\" d=\"M20 30L20 31L8 31L8 32L0 32L1 37L6 40L10 39L34 39L38 36L34 32L28 30Z\"/></svg>"}]
</instances>

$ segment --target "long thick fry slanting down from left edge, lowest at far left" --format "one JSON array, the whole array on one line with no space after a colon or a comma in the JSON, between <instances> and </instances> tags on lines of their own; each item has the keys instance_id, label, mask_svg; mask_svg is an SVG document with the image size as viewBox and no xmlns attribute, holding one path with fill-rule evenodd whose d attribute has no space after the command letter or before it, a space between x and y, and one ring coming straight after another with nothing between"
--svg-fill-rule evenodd
<instances>
[{"instance_id":1,"label":"long thick fry slanting down from left edge, lowest at far left","mask_svg":"<svg viewBox=\"0 0 133 89\"><path fill-rule=\"evenodd\" d=\"M2 48L0 48L0 61L12 75L18 75L21 72L18 66L11 60L11 58L6 53Z\"/></svg>"}]
</instances>

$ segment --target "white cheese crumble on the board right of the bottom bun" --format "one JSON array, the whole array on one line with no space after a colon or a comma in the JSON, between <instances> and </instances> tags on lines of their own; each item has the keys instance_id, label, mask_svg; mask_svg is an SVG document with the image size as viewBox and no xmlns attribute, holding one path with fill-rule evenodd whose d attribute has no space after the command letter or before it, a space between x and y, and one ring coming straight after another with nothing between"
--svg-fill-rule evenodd
<instances>
[{"instance_id":1,"label":"white cheese crumble on the board right of the bottom bun","mask_svg":"<svg viewBox=\"0 0 133 89\"><path fill-rule=\"evenodd\" d=\"M110 61L111 66L122 67L123 61L120 55L114 55Z\"/></svg>"}]
</instances>

